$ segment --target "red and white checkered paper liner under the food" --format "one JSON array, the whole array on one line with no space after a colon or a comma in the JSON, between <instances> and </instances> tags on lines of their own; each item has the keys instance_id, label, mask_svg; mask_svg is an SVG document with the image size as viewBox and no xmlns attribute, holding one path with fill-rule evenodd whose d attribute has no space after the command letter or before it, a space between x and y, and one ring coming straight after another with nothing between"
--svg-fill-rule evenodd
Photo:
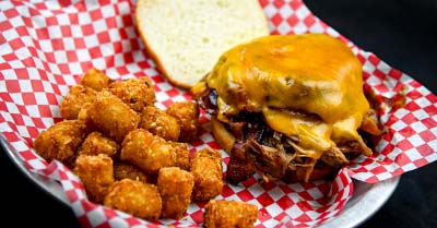
<instances>
[{"instance_id":1,"label":"red and white checkered paper liner under the food","mask_svg":"<svg viewBox=\"0 0 437 228\"><path fill-rule=\"evenodd\" d=\"M352 179L369 183L402 175L437 159L437 97L409 75L356 47L317 19L302 0L261 0L272 34L326 33L346 43L363 63L365 89L375 94L388 133L373 157L358 157L333 182L260 184L250 178L226 184L217 199L258 206L256 227L314 227L334 218L353 194ZM36 135L61 120L59 104L92 67L111 79L147 75L158 107L190 99L158 73L134 27L130 1L1 1L0 130L25 166L57 180L83 227L199 227L204 203L190 204L179 220L145 221L86 200L79 179L62 164L47 164L33 149ZM405 105L399 105L405 101ZM192 144L218 148L204 131ZM226 169L228 157L222 151ZM352 179L351 179L352 178Z\"/></svg>"}]
</instances>

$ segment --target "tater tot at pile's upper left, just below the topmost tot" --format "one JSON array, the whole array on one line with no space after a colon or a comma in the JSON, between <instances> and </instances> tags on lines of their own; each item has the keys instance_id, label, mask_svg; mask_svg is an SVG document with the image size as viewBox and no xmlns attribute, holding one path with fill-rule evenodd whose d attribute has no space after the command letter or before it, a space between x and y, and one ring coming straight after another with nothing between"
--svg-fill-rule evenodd
<instances>
[{"instance_id":1,"label":"tater tot at pile's upper left, just below the topmost tot","mask_svg":"<svg viewBox=\"0 0 437 228\"><path fill-rule=\"evenodd\" d=\"M59 106L62 118L66 120L78 119L82 105L93 103L96 99L96 93L93 88L81 84L71 87Z\"/></svg>"}]
</instances>

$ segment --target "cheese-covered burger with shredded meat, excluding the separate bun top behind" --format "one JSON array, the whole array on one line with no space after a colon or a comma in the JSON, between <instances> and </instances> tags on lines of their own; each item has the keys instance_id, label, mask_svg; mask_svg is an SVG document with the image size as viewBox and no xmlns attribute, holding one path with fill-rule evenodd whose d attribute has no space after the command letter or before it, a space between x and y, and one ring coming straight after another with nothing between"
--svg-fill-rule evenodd
<instances>
[{"instance_id":1,"label":"cheese-covered burger with shredded meat, excluding the separate bun top behind","mask_svg":"<svg viewBox=\"0 0 437 228\"><path fill-rule=\"evenodd\" d=\"M191 92L231 155L232 182L253 172L267 182L319 179L357 154L371 154L363 134L381 134L358 59L328 35L272 35L239 45Z\"/></svg>"}]
</instances>

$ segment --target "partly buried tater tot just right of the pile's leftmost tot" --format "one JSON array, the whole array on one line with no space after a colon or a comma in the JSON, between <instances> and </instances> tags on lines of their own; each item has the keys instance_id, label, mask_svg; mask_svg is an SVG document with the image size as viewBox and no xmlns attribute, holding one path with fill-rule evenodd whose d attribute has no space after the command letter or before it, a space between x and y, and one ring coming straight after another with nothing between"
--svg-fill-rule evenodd
<instances>
[{"instance_id":1,"label":"partly buried tater tot just right of the pile's leftmost tot","mask_svg":"<svg viewBox=\"0 0 437 228\"><path fill-rule=\"evenodd\" d=\"M120 145L117 144L114 140L103 135L101 132L92 132L86 139L83 141L79 155L98 155L106 154L110 158L115 158Z\"/></svg>"}]
</instances>

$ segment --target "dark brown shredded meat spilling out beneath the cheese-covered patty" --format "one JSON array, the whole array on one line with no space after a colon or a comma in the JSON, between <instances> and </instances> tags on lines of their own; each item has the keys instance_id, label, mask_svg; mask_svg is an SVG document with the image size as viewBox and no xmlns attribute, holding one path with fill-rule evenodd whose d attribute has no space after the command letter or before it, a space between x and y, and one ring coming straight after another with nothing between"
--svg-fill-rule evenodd
<instances>
[{"instance_id":1,"label":"dark brown shredded meat spilling out beneath the cheese-covered patty","mask_svg":"<svg viewBox=\"0 0 437 228\"><path fill-rule=\"evenodd\" d=\"M198 96L199 105L211 115L216 115L217 93L208 88ZM303 115L309 115L303 112ZM309 117L311 117L309 115ZM315 160L299 155L298 136L287 136L267 125L262 113L244 111L227 117L225 123L235 136L227 165L226 179L232 183L241 182L257 172L263 181L291 180L308 181L320 179L349 164L356 155L370 155L371 149L361 137L357 141L340 142ZM362 123L362 131L379 135L376 111L370 109ZM304 153L305 154L305 153Z\"/></svg>"}]
</instances>

